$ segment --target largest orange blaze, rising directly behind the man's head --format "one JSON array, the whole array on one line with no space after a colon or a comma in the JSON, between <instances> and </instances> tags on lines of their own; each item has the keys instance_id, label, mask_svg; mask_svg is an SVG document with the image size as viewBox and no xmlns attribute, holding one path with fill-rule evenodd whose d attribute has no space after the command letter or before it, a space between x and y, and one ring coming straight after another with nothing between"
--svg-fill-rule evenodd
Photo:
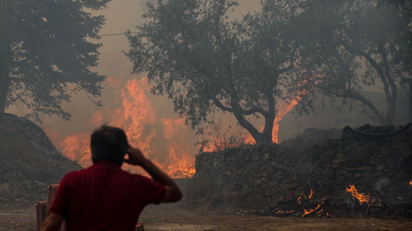
<instances>
[{"instance_id":1,"label":"largest orange blaze, rising directly behind the man's head","mask_svg":"<svg viewBox=\"0 0 412 231\"><path fill-rule=\"evenodd\" d=\"M91 118L88 126L96 128L102 123L123 128L128 135L132 147L139 148L150 157L154 163L173 177L188 177L195 173L194 153L188 148L190 144L182 136L182 131L187 131L182 119L157 118L156 111L151 102L147 79L129 80L125 86L114 78L109 78L108 83L119 89L121 103L115 109L103 108ZM155 124L163 126L164 134L157 134ZM153 139L161 135L164 137L161 144L154 144ZM187 134L186 134L187 135ZM90 166L90 134L73 134L61 142L62 153L70 159L76 160L83 167ZM168 155L164 161L159 161L154 153L155 145L166 145ZM129 168L139 172L136 169Z\"/></svg>"}]
</instances>

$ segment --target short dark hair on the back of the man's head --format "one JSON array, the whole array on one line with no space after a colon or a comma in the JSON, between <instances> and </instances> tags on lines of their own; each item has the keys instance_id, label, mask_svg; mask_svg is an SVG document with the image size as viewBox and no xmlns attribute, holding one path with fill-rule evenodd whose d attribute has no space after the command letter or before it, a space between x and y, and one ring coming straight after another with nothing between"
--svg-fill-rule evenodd
<instances>
[{"instance_id":1,"label":"short dark hair on the back of the man's head","mask_svg":"<svg viewBox=\"0 0 412 231\"><path fill-rule=\"evenodd\" d=\"M90 143L93 163L112 161L122 165L129 148L128 139L122 129L105 125L93 132Z\"/></svg>"}]
</instances>

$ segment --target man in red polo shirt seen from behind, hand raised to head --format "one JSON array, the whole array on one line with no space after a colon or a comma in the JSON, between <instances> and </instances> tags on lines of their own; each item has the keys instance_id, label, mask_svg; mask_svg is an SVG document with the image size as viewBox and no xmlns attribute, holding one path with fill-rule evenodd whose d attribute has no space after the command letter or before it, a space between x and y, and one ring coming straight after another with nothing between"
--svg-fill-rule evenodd
<instances>
[{"instance_id":1,"label":"man in red polo shirt seen from behind, hand raised to head","mask_svg":"<svg viewBox=\"0 0 412 231\"><path fill-rule=\"evenodd\" d=\"M131 148L122 129L96 130L91 150L93 165L61 180L42 231L59 230L64 219L67 231L133 231L145 205L181 199L176 183ZM154 180L123 171L123 162L141 166Z\"/></svg>"}]
</instances>

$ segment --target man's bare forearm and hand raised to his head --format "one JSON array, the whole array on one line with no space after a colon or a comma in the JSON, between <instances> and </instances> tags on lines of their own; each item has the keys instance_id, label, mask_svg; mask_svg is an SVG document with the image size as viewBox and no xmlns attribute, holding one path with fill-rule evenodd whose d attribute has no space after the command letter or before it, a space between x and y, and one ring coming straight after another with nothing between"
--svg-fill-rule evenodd
<instances>
[{"instance_id":1,"label":"man's bare forearm and hand raised to his head","mask_svg":"<svg viewBox=\"0 0 412 231\"><path fill-rule=\"evenodd\" d=\"M146 159L140 150L129 148L128 154L129 159L125 159L126 163L141 166L152 176L153 180L165 185L166 192L162 202L177 202L181 199L181 191L175 181Z\"/></svg>"}]
</instances>

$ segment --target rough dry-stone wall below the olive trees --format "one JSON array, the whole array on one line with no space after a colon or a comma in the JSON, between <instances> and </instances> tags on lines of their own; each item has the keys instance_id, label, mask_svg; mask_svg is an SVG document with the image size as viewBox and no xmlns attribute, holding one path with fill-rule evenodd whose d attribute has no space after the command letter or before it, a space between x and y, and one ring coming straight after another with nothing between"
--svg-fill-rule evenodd
<instances>
[{"instance_id":1,"label":"rough dry-stone wall below the olive trees","mask_svg":"<svg viewBox=\"0 0 412 231\"><path fill-rule=\"evenodd\" d=\"M359 128L385 133L393 127ZM196 157L188 200L240 207L268 208L296 200L313 189L315 197L346 197L378 189L387 197L411 197L412 129L380 141L343 133L321 146L292 151L279 145L249 145ZM294 147L296 149L296 147Z\"/></svg>"}]
</instances>

